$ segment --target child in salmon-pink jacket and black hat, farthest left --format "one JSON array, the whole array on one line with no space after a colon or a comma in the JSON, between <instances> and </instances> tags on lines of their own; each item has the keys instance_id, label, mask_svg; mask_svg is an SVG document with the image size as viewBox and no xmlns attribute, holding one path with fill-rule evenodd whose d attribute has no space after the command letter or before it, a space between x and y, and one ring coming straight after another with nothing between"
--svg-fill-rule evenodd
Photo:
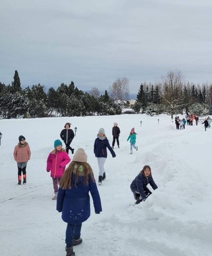
<instances>
[{"instance_id":1,"label":"child in salmon-pink jacket and black hat, farthest left","mask_svg":"<svg viewBox=\"0 0 212 256\"><path fill-rule=\"evenodd\" d=\"M23 135L19 136L19 143L15 146L13 152L14 159L17 161L18 165L18 184L21 185L22 172L23 172L23 184L27 183L27 162L30 159L31 151L28 143Z\"/></svg>"}]
</instances>

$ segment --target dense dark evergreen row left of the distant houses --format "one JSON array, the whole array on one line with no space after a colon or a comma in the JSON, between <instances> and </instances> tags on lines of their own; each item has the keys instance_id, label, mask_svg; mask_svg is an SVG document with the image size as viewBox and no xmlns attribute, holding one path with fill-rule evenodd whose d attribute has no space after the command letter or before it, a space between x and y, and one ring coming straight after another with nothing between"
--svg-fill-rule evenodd
<instances>
[{"instance_id":1,"label":"dense dark evergreen row left of the distant houses","mask_svg":"<svg viewBox=\"0 0 212 256\"><path fill-rule=\"evenodd\" d=\"M57 90L38 84L24 90L17 70L11 85L0 83L0 116L20 118L29 113L32 118L52 116L119 115L121 107L105 95L95 97L75 87L62 83Z\"/></svg>"}]
</instances>

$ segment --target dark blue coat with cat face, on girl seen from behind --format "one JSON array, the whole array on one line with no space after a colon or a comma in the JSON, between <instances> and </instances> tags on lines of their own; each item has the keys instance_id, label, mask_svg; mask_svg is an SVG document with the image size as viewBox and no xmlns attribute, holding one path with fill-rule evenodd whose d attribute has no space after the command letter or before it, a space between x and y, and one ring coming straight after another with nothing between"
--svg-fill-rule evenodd
<instances>
[{"instance_id":1,"label":"dark blue coat with cat face, on girl seen from behind","mask_svg":"<svg viewBox=\"0 0 212 256\"><path fill-rule=\"evenodd\" d=\"M79 176L77 187L76 175L72 176L72 188L63 190L59 188L57 194L56 210L62 212L62 220L70 224L80 224L90 217L90 196L93 198L95 213L102 212L100 195L96 183L89 179L89 184L83 184L83 175Z\"/></svg>"}]
</instances>

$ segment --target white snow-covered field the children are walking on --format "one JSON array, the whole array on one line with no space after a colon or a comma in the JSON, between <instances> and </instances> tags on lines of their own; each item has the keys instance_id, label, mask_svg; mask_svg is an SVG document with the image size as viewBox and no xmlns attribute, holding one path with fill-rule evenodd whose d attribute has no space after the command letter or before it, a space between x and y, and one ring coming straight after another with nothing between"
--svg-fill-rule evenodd
<instances>
[{"instance_id":1,"label":"white snow-covered field the children are walking on","mask_svg":"<svg viewBox=\"0 0 212 256\"><path fill-rule=\"evenodd\" d=\"M170 116L127 114L0 120L0 255L66 255L66 224L55 209L46 172L47 157L66 122L77 127L71 146L85 149L96 179L93 144L99 128L105 128L110 144L113 123L121 130L120 149L115 144L116 158L108 152L106 180L98 186L103 212L95 215L91 198L91 217L82 224L76 256L212 256L212 128L205 132L194 122L176 130ZM130 155L132 127L138 151ZM19 135L31 149L27 184L21 186L13 159ZM148 186L153 194L135 206L130 184L146 164L159 189Z\"/></svg>"}]
</instances>

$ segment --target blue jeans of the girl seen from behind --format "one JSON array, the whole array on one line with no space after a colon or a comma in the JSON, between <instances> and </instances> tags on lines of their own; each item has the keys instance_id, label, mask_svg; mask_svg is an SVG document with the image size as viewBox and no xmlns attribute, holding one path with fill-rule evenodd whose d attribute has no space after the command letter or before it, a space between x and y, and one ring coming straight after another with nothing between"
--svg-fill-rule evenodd
<instances>
[{"instance_id":1,"label":"blue jeans of the girl seen from behind","mask_svg":"<svg viewBox=\"0 0 212 256\"><path fill-rule=\"evenodd\" d=\"M67 247L73 246L73 240L80 238L81 224L67 224L65 243Z\"/></svg>"}]
</instances>

